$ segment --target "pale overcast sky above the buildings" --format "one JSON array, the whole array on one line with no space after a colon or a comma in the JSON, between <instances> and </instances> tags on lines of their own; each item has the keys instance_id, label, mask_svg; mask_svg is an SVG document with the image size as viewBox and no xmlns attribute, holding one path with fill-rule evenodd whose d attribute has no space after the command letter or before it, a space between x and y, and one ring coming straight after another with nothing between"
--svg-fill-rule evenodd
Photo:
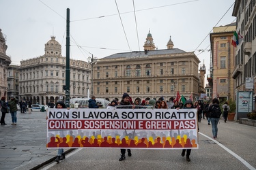
<instances>
[{"instance_id":1,"label":"pale overcast sky above the buildings","mask_svg":"<svg viewBox=\"0 0 256 170\"><path fill-rule=\"evenodd\" d=\"M174 48L195 51L210 74L208 34L215 25L236 21L231 16L234 1L0 0L0 29L14 65L44 55L44 44L51 35L61 44L62 56L66 56L66 9L70 8L70 58L87 61L91 54L103 58L143 50L150 29L158 50L167 49L171 35Z\"/></svg>"}]
</instances>

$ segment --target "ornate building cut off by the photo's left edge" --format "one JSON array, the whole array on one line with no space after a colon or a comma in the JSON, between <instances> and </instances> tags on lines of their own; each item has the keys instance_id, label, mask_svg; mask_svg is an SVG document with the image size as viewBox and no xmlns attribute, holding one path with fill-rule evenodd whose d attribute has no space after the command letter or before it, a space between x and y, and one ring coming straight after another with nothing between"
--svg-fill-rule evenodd
<instances>
[{"instance_id":1,"label":"ornate building cut off by the photo's left edge","mask_svg":"<svg viewBox=\"0 0 256 170\"><path fill-rule=\"evenodd\" d=\"M7 68L11 63L11 58L6 55L7 48L0 29L0 97L4 96L6 99L8 95Z\"/></svg>"}]
</instances>

